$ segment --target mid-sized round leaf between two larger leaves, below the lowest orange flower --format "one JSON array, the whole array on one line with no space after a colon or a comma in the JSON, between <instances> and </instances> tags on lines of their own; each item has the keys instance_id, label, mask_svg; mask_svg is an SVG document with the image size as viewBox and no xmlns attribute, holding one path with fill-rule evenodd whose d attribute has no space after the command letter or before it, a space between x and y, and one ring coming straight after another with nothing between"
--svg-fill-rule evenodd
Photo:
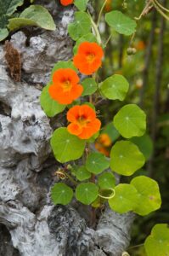
<instances>
[{"instance_id":1,"label":"mid-sized round leaf between two larger leaves, below the lowest orange flower","mask_svg":"<svg viewBox=\"0 0 169 256\"><path fill-rule=\"evenodd\" d=\"M88 155L86 161L86 167L88 172L99 174L110 166L110 161L104 156L97 152L93 152Z\"/></svg>"}]
</instances>

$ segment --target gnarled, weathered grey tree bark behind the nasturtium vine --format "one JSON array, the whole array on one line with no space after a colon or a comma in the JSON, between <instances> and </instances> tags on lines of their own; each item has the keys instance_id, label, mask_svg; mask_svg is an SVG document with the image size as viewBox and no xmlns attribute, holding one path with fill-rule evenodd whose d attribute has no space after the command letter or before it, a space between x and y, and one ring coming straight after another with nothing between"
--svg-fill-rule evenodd
<instances>
[{"instance_id":1,"label":"gnarled, weathered grey tree bark behind the nasturtium vine","mask_svg":"<svg viewBox=\"0 0 169 256\"><path fill-rule=\"evenodd\" d=\"M131 212L106 207L93 230L82 216L85 207L54 207L50 201L59 164L49 146L54 127L40 107L39 84L48 83L55 62L72 55L66 27L74 9L57 9L52 2L48 9L55 32L34 29L37 35L30 38L16 32L10 40L21 54L20 83L9 77L0 45L0 255L120 256L129 245Z\"/></svg>"}]
</instances>

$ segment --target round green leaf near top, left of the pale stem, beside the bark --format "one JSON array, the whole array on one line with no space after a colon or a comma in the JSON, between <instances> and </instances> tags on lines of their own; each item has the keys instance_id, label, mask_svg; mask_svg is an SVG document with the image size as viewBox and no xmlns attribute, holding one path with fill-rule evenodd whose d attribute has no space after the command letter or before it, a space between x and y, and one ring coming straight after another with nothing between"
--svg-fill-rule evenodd
<instances>
[{"instance_id":1,"label":"round green leaf near top, left of the pale stem, beside the bark","mask_svg":"<svg viewBox=\"0 0 169 256\"><path fill-rule=\"evenodd\" d=\"M75 21L68 25L70 38L77 40L91 31L91 21L85 12L76 12Z\"/></svg>"}]
</instances>

